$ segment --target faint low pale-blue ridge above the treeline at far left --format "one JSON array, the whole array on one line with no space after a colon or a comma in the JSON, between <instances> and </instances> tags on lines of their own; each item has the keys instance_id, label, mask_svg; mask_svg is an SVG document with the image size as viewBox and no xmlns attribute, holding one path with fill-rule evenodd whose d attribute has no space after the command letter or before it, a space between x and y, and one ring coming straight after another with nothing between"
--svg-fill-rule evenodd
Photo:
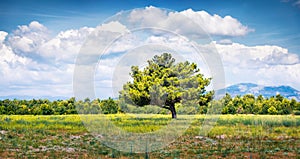
<instances>
[{"instance_id":1,"label":"faint low pale-blue ridge above the treeline at far left","mask_svg":"<svg viewBox=\"0 0 300 159\"><path fill-rule=\"evenodd\" d=\"M9 95L9 96L0 96L0 100L5 100L5 99L19 99L19 100L31 100L31 99L48 99L50 101L54 100L65 100L69 99L69 97L63 97L63 96L26 96L26 95Z\"/></svg>"}]
</instances>

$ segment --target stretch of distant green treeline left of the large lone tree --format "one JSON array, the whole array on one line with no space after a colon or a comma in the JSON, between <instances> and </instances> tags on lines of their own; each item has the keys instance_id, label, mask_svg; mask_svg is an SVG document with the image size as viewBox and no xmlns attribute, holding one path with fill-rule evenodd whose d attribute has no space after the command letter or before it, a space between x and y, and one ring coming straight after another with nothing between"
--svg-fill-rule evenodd
<instances>
[{"instance_id":1,"label":"stretch of distant green treeline left of the large lone tree","mask_svg":"<svg viewBox=\"0 0 300 159\"><path fill-rule=\"evenodd\" d=\"M0 115L64 115L64 114L114 114L119 106L113 99L79 100L74 97L68 100L49 101L48 99L0 100Z\"/></svg>"}]
</instances>

